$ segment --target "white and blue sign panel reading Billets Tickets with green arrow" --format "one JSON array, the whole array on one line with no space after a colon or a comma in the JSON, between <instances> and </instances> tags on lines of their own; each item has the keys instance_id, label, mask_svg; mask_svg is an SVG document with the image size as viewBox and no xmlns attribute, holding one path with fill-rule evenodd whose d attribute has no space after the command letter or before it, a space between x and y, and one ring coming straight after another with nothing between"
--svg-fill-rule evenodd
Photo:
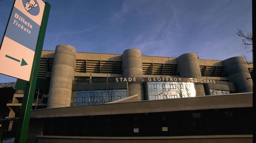
<instances>
[{"instance_id":1,"label":"white and blue sign panel reading Billets Tickets with green arrow","mask_svg":"<svg viewBox=\"0 0 256 143\"><path fill-rule=\"evenodd\" d=\"M0 47L0 73L29 81L44 7L41 0L15 0Z\"/></svg>"}]
</instances>

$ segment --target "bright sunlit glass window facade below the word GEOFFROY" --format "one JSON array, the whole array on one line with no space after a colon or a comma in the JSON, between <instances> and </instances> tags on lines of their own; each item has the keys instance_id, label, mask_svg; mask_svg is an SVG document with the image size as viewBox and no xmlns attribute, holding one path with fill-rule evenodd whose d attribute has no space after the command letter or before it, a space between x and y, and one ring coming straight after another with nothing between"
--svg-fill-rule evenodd
<instances>
[{"instance_id":1,"label":"bright sunlit glass window facade below the word GEOFFROY","mask_svg":"<svg viewBox=\"0 0 256 143\"><path fill-rule=\"evenodd\" d=\"M148 100L195 97L194 83L190 82L148 82Z\"/></svg>"}]
</instances>

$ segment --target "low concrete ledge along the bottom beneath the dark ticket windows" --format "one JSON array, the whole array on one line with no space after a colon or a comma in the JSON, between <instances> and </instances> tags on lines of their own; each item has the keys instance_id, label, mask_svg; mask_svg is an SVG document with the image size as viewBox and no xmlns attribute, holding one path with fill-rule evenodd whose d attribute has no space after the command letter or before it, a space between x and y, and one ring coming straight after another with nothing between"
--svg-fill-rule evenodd
<instances>
[{"instance_id":1,"label":"low concrete ledge along the bottom beneath the dark ticket windows","mask_svg":"<svg viewBox=\"0 0 256 143\"><path fill-rule=\"evenodd\" d=\"M36 136L38 143L252 143L252 135L164 136L164 137L70 137Z\"/></svg>"}]
</instances>

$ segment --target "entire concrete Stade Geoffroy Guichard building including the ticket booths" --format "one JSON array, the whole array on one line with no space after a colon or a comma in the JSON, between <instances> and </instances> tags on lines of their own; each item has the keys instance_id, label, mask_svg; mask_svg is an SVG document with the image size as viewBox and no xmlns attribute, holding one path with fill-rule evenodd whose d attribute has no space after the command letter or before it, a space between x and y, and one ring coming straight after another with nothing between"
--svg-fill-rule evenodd
<instances>
[{"instance_id":1,"label":"entire concrete Stade Geoffroy Guichard building including the ticket booths","mask_svg":"<svg viewBox=\"0 0 256 143\"><path fill-rule=\"evenodd\" d=\"M42 51L27 142L252 142L252 71L199 59ZM15 131L25 82L8 101Z\"/></svg>"}]
</instances>

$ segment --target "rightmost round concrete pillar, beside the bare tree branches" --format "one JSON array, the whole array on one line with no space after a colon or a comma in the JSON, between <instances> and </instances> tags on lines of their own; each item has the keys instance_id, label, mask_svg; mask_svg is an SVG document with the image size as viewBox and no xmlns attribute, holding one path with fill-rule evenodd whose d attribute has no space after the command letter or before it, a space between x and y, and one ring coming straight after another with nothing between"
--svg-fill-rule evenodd
<instances>
[{"instance_id":1,"label":"rightmost round concrete pillar, beside the bare tree branches","mask_svg":"<svg viewBox=\"0 0 256 143\"><path fill-rule=\"evenodd\" d=\"M228 75L229 82L233 82L238 93L252 92L252 79L243 57L232 57L222 61L223 74Z\"/></svg>"}]
</instances>

